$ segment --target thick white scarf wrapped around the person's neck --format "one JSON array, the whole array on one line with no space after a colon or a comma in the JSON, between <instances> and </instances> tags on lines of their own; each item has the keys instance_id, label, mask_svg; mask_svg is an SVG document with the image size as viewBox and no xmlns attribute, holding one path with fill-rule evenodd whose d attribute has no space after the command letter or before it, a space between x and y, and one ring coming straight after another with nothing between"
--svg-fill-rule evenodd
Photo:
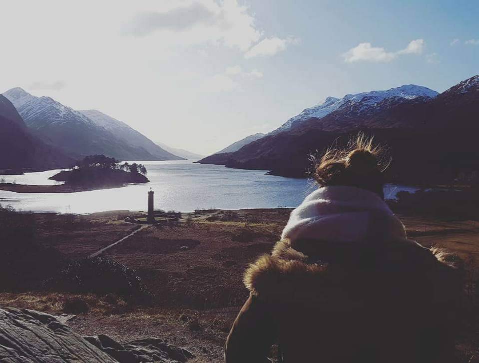
<instances>
[{"instance_id":1,"label":"thick white scarf wrapped around the person's neck","mask_svg":"<svg viewBox=\"0 0 479 363\"><path fill-rule=\"evenodd\" d=\"M291 212L281 238L292 245L299 239L359 244L371 235L408 241L403 224L376 193L332 186L314 191Z\"/></svg>"}]
</instances>

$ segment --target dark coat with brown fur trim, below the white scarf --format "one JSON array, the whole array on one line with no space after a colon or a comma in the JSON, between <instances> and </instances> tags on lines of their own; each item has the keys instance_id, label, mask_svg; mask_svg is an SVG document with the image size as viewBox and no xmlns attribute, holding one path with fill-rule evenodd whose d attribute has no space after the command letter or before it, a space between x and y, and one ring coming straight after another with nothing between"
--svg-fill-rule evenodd
<instances>
[{"instance_id":1,"label":"dark coat with brown fur trim, below the white scarf","mask_svg":"<svg viewBox=\"0 0 479 363\"><path fill-rule=\"evenodd\" d=\"M461 286L446 255L411 242L357 251L289 240L245 274L226 363L452 363Z\"/></svg>"}]
</instances>

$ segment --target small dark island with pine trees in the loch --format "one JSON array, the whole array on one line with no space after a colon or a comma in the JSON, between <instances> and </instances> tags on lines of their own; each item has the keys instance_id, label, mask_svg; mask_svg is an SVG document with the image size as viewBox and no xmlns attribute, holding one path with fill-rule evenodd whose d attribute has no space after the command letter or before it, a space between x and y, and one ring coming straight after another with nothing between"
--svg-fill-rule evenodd
<instances>
[{"instance_id":1,"label":"small dark island with pine trees in the loch","mask_svg":"<svg viewBox=\"0 0 479 363\"><path fill-rule=\"evenodd\" d=\"M144 165L120 164L105 155L86 156L71 170L63 170L49 179L64 182L58 185L24 185L3 183L1 190L17 193L71 193L96 189L118 188L127 184L148 183Z\"/></svg>"}]
</instances>

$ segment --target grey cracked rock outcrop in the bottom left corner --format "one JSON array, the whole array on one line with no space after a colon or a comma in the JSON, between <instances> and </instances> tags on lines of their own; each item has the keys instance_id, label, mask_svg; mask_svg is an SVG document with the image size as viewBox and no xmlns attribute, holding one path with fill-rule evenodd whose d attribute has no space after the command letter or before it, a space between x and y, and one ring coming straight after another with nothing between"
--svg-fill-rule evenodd
<instances>
[{"instance_id":1,"label":"grey cracked rock outcrop in the bottom left corner","mask_svg":"<svg viewBox=\"0 0 479 363\"><path fill-rule=\"evenodd\" d=\"M81 337L64 319L34 310L0 309L0 362L186 362L193 355L161 339L118 343L106 335Z\"/></svg>"}]
</instances>

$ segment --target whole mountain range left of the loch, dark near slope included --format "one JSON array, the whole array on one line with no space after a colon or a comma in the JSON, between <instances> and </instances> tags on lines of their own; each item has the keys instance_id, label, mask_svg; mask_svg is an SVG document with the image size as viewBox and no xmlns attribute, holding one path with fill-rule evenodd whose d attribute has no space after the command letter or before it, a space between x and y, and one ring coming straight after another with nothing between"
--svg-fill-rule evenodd
<instances>
[{"instance_id":1,"label":"whole mountain range left of the loch, dark near slope included","mask_svg":"<svg viewBox=\"0 0 479 363\"><path fill-rule=\"evenodd\" d=\"M19 87L9 89L1 97L0 138L4 142L0 151L16 152L14 157L2 153L0 171L67 167L74 160L92 154L119 160L198 160L203 157L164 144L162 147L125 122L97 110L74 110L50 97L33 96Z\"/></svg>"}]
</instances>

